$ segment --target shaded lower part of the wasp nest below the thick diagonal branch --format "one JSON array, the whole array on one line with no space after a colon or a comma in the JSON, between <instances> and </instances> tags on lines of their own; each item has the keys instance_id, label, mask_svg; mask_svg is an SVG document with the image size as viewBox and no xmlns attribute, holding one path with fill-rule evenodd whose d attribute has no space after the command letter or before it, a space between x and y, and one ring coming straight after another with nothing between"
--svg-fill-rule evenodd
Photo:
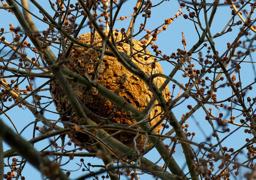
<instances>
[{"instance_id":1,"label":"shaded lower part of the wasp nest below the thick diagonal branch","mask_svg":"<svg viewBox=\"0 0 256 180\"><path fill-rule=\"evenodd\" d=\"M95 123L100 124L102 123L102 121L99 121L99 119L96 118L94 115L92 115L92 113L103 118L109 117L109 122L111 123L116 123L120 125L122 124L132 125L136 123L134 119L128 119L127 117L129 117L129 115L123 110L113 113L113 109L118 109L118 108L113 103L110 103L110 101L108 101L106 98L100 95L93 95L91 89L87 90L86 87L83 87L81 85L78 85L72 82L70 82L70 85L72 89L74 89L77 96L79 97L81 103L85 105L85 107L87 107L89 111L91 111L91 113L87 112L87 116L89 119L91 119ZM62 90L62 88L60 87L59 83L56 80L53 80L50 83L50 92L54 99L56 110L60 113L65 112L65 115L63 115L63 117L61 118L61 120L63 121L64 127L71 127L71 123L78 124L78 125L85 125L82 122L79 122L78 118L75 115L75 112L72 109L70 109L71 104L69 103L69 101L67 101L67 95ZM139 109L142 110L142 108L143 107ZM157 120L158 119L154 119L154 121L156 122ZM70 122L70 123L65 123L64 121ZM151 121L150 122L152 123L151 126L154 125L156 122L152 123ZM75 128L75 127L72 127L72 128ZM138 126L134 126L133 128L139 129ZM159 125L155 129L157 133L160 133L160 130L161 130L161 125ZM91 133L96 135L97 134L96 131L97 130L95 130L95 132L91 131ZM105 129L105 131L110 135L117 132L117 130L110 130L110 129ZM119 134L114 135L113 137L116 138L121 143L123 143L124 145L130 148L134 148L133 140L135 136L136 134L134 133L122 131ZM80 133L80 132L72 133L72 134L69 133L68 137L71 139L73 143L75 143L75 145L83 149L86 149L90 153L97 151L95 146L91 146L92 144L91 138L85 133ZM138 149L141 149L144 146L145 138L146 138L145 135L139 135L136 138L136 147ZM147 145L149 144L150 144L150 141L147 142Z\"/></svg>"}]
</instances>

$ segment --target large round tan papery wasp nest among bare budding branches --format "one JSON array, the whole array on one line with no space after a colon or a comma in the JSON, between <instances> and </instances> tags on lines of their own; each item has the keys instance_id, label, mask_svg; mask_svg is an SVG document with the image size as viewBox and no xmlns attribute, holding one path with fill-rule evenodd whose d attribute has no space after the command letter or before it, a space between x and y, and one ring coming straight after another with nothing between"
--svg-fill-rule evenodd
<instances>
[{"instance_id":1,"label":"large round tan papery wasp nest among bare budding branches","mask_svg":"<svg viewBox=\"0 0 256 180\"><path fill-rule=\"evenodd\" d=\"M118 49L118 51L125 52L129 55L129 43L124 40L124 37L121 33L118 33L116 31L114 31L114 33L116 48ZM86 33L79 36L78 39L81 42L93 45L94 47L101 47L103 43L98 33L95 33L93 35L91 33ZM143 49L140 41L133 40L133 45L134 52L141 51ZM106 51L109 51L108 47L106 48ZM144 53L146 53L146 55L139 55ZM143 50L142 53L137 53L136 55L134 55L136 61L132 58L132 61L148 76L151 75L152 66L143 64L152 63L154 61L154 58L150 55L151 53L149 51ZM92 48L84 49L82 47L74 47L70 53L70 60L65 65L67 65L67 67L71 69L76 69L76 71L79 71L80 74L87 73L90 78L95 78L97 77L96 69L99 69L97 64L99 64L101 61L99 58L99 52L95 51ZM159 63L155 63L155 68L153 69L152 74L155 73L163 73L162 67ZM164 81L165 79L162 77L157 77L153 80L153 82L157 84L158 87L160 87ZM110 57L106 55L103 57L101 73L97 78L97 82L109 89L110 91L114 92L119 97L124 98L128 103L132 104L139 111L142 111L153 97L153 93L148 90L149 87L141 79L126 70L115 57ZM83 103L83 105L86 107L85 112L88 118L95 121L96 123L99 124L101 122L104 122L118 123L124 125L132 125L136 123L134 119L129 118L130 115L127 114L125 111L117 111L118 107L116 107L116 105L111 103L108 99L99 95L96 88L87 89L86 87L73 82L70 82L70 85L73 88L74 92L77 94L77 96L80 98L81 103ZM79 123L77 122L77 117L75 117L72 108L70 108L71 105L67 100L67 96L60 87L58 81L54 80L50 83L50 92L52 98L54 99L54 105L56 107L56 110L59 113L66 112L65 115L62 116L62 121ZM163 90L163 96L166 100L170 98L168 86L165 87L165 89ZM69 109L71 110L69 111ZM160 120L160 116L156 116L160 112L161 107L156 106L149 114L148 120L151 120L149 122L151 126L155 125L157 121ZM104 120L100 117L107 118L107 120ZM65 126L69 125L65 123ZM138 126L134 126L134 128L139 129ZM116 132L114 130L106 131L110 134ZM161 123L155 128L155 131L157 133L160 133ZM125 145L132 148L134 147L133 139L135 135L132 133L121 132L114 137ZM80 147L85 147L87 151L95 151L95 147L89 146L89 144L91 143L91 139L87 135L82 133L76 133L71 135L71 139ZM136 139L136 145L138 148L141 148L144 145L144 140L144 135L140 135ZM147 144L149 143L150 142L148 142Z\"/></svg>"}]
</instances>

